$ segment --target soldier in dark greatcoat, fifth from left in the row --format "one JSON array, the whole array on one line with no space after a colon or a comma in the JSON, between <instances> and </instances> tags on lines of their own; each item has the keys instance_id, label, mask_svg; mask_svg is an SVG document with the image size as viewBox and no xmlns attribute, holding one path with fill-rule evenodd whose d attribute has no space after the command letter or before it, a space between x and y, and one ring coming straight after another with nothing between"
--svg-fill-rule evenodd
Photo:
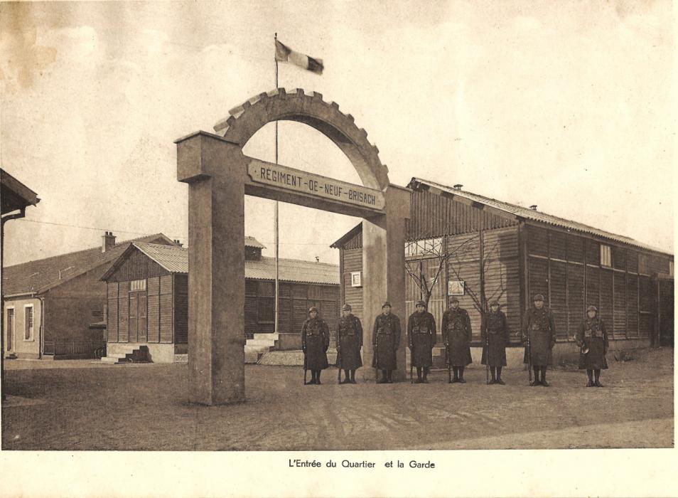
<instances>
[{"instance_id":1,"label":"soldier in dark greatcoat, fifth from left in the row","mask_svg":"<svg viewBox=\"0 0 678 498\"><path fill-rule=\"evenodd\" d=\"M466 309L459 307L459 300L453 297L450 308L443 313L443 343L447 349L448 363L452 366L454 378L450 383L466 383L464 367L473 361L470 356L471 326Z\"/></svg>"}]
</instances>

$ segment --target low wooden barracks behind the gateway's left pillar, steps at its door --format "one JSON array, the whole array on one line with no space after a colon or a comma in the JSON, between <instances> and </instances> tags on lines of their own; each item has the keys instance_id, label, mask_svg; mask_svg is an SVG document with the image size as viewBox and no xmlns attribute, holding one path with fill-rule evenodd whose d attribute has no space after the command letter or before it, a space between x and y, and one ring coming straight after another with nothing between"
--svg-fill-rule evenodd
<instances>
[{"instance_id":1,"label":"low wooden barracks behind the gateway's left pillar, steps at its door","mask_svg":"<svg viewBox=\"0 0 678 498\"><path fill-rule=\"evenodd\" d=\"M244 338L274 332L275 260L245 238ZM144 346L150 360L188 354L188 249L131 243L101 277L107 285L107 360ZM318 307L334 333L339 309L337 265L279 260L279 349L301 349L301 325ZM244 342L244 341L243 341ZM146 354L146 353L144 353Z\"/></svg>"}]
</instances>

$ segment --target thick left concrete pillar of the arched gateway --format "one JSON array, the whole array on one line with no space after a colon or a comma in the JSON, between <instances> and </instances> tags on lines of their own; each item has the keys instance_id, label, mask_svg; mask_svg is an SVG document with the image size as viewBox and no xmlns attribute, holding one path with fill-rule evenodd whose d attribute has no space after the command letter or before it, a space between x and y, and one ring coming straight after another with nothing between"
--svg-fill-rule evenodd
<instances>
[{"instance_id":1,"label":"thick left concrete pillar of the arched gateway","mask_svg":"<svg viewBox=\"0 0 678 498\"><path fill-rule=\"evenodd\" d=\"M198 132L176 142L188 183L191 403L244 401L244 181L238 144Z\"/></svg>"}]
</instances>

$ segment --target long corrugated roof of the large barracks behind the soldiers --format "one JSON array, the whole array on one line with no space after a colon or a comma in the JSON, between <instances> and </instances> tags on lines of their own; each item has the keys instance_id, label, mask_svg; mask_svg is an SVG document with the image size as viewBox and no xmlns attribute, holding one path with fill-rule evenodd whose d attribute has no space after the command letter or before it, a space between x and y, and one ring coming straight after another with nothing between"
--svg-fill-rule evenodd
<instances>
[{"instance_id":1,"label":"long corrugated roof of the large barracks behind the soldiers","mask_svg":"<svg viewBox=\"0 0 678 498\"><path fill-rule=\"evenodd\" d=\"M454 189L451 186L446 186L442 184L438 184L435 181L430 181L426 179L421 179L417 177L413 177L410 181L409 187L411 189L414 189L415 187L413 186L415 183L419 184L424 184L426 186L429 186L430 191L433 191L434 189L438 189L439 191L446 192L448 194L453 194L454 196L460 196L463 198L467 198L470 201L475 201L478 203L485 204L486 206L490 206L492 208L499 209L500 211L505 211L506 213L510 213L514 216L518 216L520 218L524 218L527 220L532 220L532 221L538 221L540 223L547 223L549 225L554 225L554 226L559 226L561 228L567 228L569 230L574 230L578 232L583 232L583 233L590 233L591 235L598 235L599 237L607 238L610 240L615 240L620 243L628 244L628 245L634 245L637 248L642 248L645 250L652 250L657 253L662 253L662 254L668 254L668 255L673 255L673 253L670 253L667 250L660 249L660 248L655 248L652 245L645 244L642 242L639 242L638 240L635 240L633 238L627 237L625 235L618 235L616 233L611 233L608 231L601 230L600 228L595 228L593 226L588 226L583 223L579 223L578 221L572 221L568 220L566 218L560 218L559 216L554 216L549 213L544 213L542 211L537 211L536 209L531 209L531 208L524 208L522 206L517 206L517 204L512 204L508 203L505 201L497 201L497 199L485 197L485 196L480 196L478 194L473 194L472 192L464 191L464 190L457 190Z\"/></svg>"}]
</instances>

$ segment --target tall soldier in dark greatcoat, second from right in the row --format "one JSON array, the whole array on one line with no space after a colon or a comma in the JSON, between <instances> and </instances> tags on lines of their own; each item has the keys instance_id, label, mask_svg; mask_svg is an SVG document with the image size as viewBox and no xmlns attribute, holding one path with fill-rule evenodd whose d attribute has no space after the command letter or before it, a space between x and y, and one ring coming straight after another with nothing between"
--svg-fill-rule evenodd
<instances>
[{"instance_id":1,"label":"tall soldier in dark greatcoat, second from right in the row","mask_svg":"<svg viewBox=\"0 0 678 498\"><path fill-rule=\"evenodd\" d=\"M546 380L546 371L547 366L553 363L551 350L556 345L556 322L553 312L544 306L544 296L541 294L534 296L534 306L525 313L522 341L525 345L523 362L531 364L534 370L534 381L530 386L550 386ZM542 374L541 379L539 373Z\"/></svg>"}]
</instances>

